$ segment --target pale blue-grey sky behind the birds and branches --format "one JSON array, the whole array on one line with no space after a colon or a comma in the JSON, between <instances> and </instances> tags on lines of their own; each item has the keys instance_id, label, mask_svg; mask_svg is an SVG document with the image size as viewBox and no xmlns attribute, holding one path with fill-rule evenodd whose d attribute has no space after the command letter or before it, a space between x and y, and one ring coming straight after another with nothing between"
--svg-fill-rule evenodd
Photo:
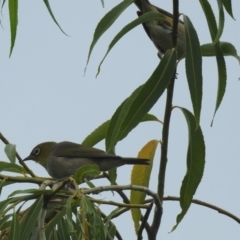
<instances>
[{"instance_id":1,"label":"pale blue-grey sky behind the birds and branches","mask_svg":"<svg viewBox=\"0 0 240 240\"><path fill-rule=\"evenodd\" d=\"M160 1L152 1L159 5ZM188 3L187 3L188 2ZM212 1L213 2L213 1ZM17 40L11 58L7 4L1 16L1 88L0 131L14 144L22 157L44 141L81 142L91 131L109 119L119 104L142 84L158 64L157 50L145 35L142 27L125 36L105 60L97 79L97 66L115 34L136 18L137 8L132 5L103 36L93 51L83 77L88 49L94 29L103 15L119 1L51 1L52 10L66 37L50 18L43 1L19 2ZM171 1L161 1L161 7L171 11ZM237 9L237 10L236 10ZM226 16L223 41L235 45L240 53L240 2L233 0L236 21ZM180 10L190 17L200 38L200 43L210 41L206 20L198 1L181 1ZM214 5L215 13L217 7ZM214 58L203 59L203 105L201 126L206 142L206 166L203 180L195 198L215 204L240 216L240 68L233 58L226 58L228 83L220 110L213 127L217 69ZM184 61L178 67L174 91L174 105L192 110L185 77ZM150 111L163 117L165 94ZM161 138L161 126L143 123L117 145L117 154L136 156L141 147L151 139ZM179 110L174 110L171 120L169 163L166 174L165 195L179 195L181 181L186 171L188 133L186 122ZM98 145L104 149L104 143ZM6 160L4 144L0 143L0 158ZM155 158L150 188L156 190L158 154ZM28 162L37 175L48 176L39 165ZM130 166L118 171L119 184L128 184ZM129 176L129 177L128 177ZM103 184L107 184L103 182ZM24 187L29 187L25 186ZM33 185L33 187L37 187ZM9 189L12 191L12 189ZM1 200L6 197L5 189ZM106 195L112 198L112 194ZM105 197L102 194L100 197ZM192 205L177 230L168 232L180 212L177 202L164 202L164 214L158 239L166 240L225 240L240 239L240 226L232 219L213 210ZM124 239L134 239L129 214L115 221Z\"/></svg>"}]
</instances>

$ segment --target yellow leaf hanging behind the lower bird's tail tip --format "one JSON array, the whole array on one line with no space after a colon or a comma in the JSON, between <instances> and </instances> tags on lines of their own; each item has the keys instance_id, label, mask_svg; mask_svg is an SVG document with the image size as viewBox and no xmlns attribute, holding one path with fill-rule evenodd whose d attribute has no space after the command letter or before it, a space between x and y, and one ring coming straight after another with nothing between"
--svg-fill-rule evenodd
<instances>
[{"instance_id":1,"label":"yellow leaf hanging behind the lower bird's tail tip","mask_svg":"<svg viewBox=\"0 0 240 240\"><path fill-rule=\"evenodd\" d=\"M131 185L139 185L144 187L149 186L153 159L154 159L158 144L159 144L159 141L151 140L139 152L138 158L150 159L150 165L149 166L141 166L141 165L133 166L132 174L131 174ZM146 193L144 192L131 191L130 202L132 204L141 204L143 203L145 197L146 197ZM131 208L131 213L132 213L135 231L138 232L139 222L141 219L141 211L138 208Z\"/></svg>"}]
</instances>

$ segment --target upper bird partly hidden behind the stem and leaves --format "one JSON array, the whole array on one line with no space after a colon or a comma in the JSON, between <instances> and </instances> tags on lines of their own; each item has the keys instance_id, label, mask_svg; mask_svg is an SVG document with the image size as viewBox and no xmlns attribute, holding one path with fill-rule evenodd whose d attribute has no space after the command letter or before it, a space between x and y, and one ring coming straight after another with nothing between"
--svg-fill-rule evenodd
<instances>
[{"instance_id":1,"label":"upper bird partly hidden behind the stem and leaves","mask_svg":"<svg viewBox=\"0 0 240 240\"><path fill-rule=\"evenodd\" d=\"M148 0L135 0L135 4L139 8L137 12L140 17L142 14L154 11L160 12L165 16L164 20L152 20L144 22L143 28L145 29L148 37L152 40L158 49L158 56L162 58L163 54L172 48L172 24L173 15L161 8L152 5ZM185 53L185 28L184 23L178 20L178 39L177 39L177 56L178 59L182 58Z\"/></svg>"}]
</instances>

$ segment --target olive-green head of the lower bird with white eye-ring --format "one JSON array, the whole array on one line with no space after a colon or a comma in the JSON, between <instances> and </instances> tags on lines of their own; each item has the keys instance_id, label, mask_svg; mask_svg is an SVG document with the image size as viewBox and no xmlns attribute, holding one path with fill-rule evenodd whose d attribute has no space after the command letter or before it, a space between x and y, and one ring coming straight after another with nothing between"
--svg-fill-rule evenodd
<instances>
[{"instance_id":1,"label":"olive-green head of the lower bird with white eye-ring","mask_svg":"<svg viewBox=\"0 0 240 240\"><path fill-rule=\"evenodd\" d=\"M44 142L38 144L33 148L30 155L23 159L23 161L33 160L41 164L43 167L46 167L47 158L56 144L56 142Z\"/></svg>"}]
</instances>

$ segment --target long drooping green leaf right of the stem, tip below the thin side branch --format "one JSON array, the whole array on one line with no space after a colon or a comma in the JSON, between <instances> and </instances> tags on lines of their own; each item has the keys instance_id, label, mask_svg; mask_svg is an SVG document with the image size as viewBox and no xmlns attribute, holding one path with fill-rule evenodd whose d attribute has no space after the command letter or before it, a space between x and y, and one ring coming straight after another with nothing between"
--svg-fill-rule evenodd
<instances>
[{"instance_id":1,"label":"long drooping green leaf right of the stem, tip below the thin side branch","mask_svg":"<svg viewBox=\"0 0 240 240\"><path fill-rule=\"evenodd\" d=\"M181 213L177 216L175 230L187 213L193 196L201 182L205 165L205 143L201 127L196 129L194 116L185 108L180 108L188 124L187 171L180 190Z\"/></svg>"}]
</instances>

